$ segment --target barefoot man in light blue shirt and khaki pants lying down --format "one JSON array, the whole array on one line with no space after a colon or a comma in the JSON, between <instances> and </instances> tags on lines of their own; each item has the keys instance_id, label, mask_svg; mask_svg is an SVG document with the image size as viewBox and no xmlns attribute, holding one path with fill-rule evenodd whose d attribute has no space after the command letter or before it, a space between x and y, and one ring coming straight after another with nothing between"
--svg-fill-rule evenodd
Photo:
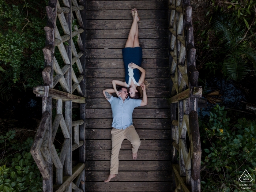
<instances>
[{"instance_id":1,"label":"barefoot man in light blue shirt and khaki pants lying down","mask_svg":"<svg viewBox=\"0 0 256 192\"><path fill-rule=\"evenodd\" d=\"M113 97L112 93L115 93L114 89L105 89L103 94L105 98L110 102L113 123L112 123L112 151L110 159L110 174L105 182L109 182L110 179L118 174L118 155L121 148L121 144L124 139L128 139L132 144L132 157L137 158L137 152L140 146L140 138L132 123L133 109L139 106L147 105L146 87L141 84L143 90L143 98L131 99L128 96L127 89L125 87L119 87L118 92L121 92L120 97Z\"/></svg>"}]
</instances>

